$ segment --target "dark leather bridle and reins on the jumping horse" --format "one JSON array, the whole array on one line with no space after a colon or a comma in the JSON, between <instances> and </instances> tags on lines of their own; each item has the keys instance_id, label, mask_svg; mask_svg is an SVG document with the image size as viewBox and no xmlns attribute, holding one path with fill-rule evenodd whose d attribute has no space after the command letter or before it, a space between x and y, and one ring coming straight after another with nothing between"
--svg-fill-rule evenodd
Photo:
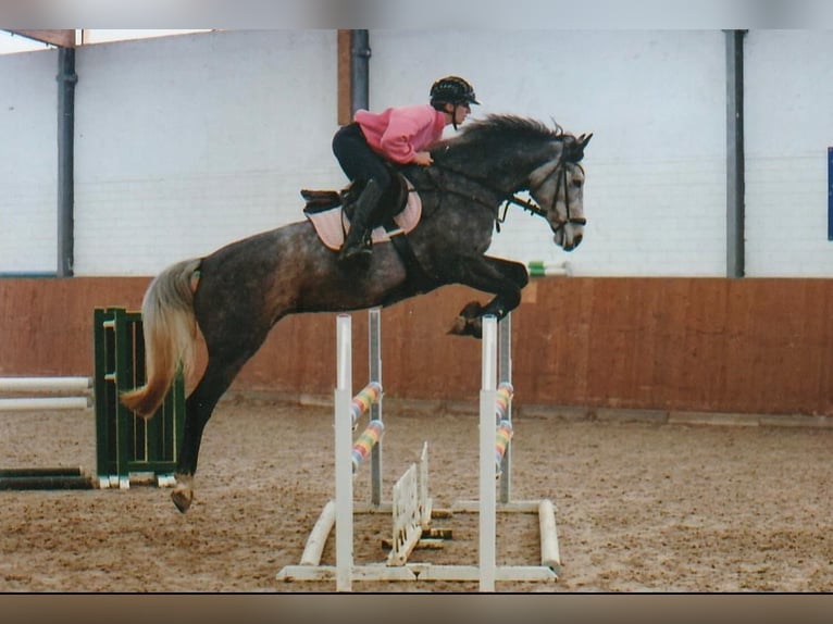
<instances>
[{"instance_id":1,"label":"dark leather bridle and reins on the jumping horse","mask_svg":"<svg viewBox=\"0 0 833 624\"><path fill-rule=\"evenodd\" d=\"M582 169L582 165L577 165L577 166L579 166L579 169ZM450 174L457 175L459 177L462 177L462 178L464 178L464 179L467 179L469 182L472 182L472 183L476 184L477 186L482 187L483 189L489 191L492 195L497 196L498 199L499 199L499 202L498 202L498 208L497 208L497 214L495 215L495 221L497 223L498 232L500 229L500 224L506 221L506 214L507 214L507 212L509 210L509 207L511 204L519 205L524 211L527 211L527 212L530 212L533 215L542 216L542 217L545 217L545 219L547 217L548 214L555 213L558 216L558 221L556 222L556 227L552 228L554 233L556 233L559 229L561 229L568 223L572 224L572 225L586 225L587 224L587 220L585 217L583 217L583 216L572 216L572 214L571 214L571 211L570 211L570 194L569 194L569 189L567 188L567 167L564 166L564 162L563 162L562 158L559 158L556 161L548 162L548 163L545 163L545 164L540 165L538 169L533 171L532 174L530 174L530 177L529 177L529 179L531 182L534 177L536 177L536 174L538 174L538 172L542 172L542 171L545 172L543 174L544 177L543 177L543 179L539 183L537 183L535 186L530 186L529 188L526 188L526 190L532 196L536 190L538 190L540 187L543 187L554 175L558 175L558 179L556 180L556 192L552 195L552 205L550 207L549 213L546 210L542 209L540 205L538 205L538 203L534 201L534 199L521 198L521 197L518 196L517 191L506 191L503 189L500 189L500 188L496 187L495 185L493 185L488 180L486 180L486 179L484 179L482 177L478 177L478 176L471 175L470 173L467 173L464 171L460 171L458 169L453 169L453 167L450 167L450 166L448 166L446 164L436 163L436 162L432 166L430 166L427 171L431 172L432 170L439 170L443 173L450 173ZM584 171L584 170L582 169L582 171ZM540 175L540 174L538 174L538 175ZM463 192L463 191L459 191L459 190L455 190L455 189L446 188L445 186L440 186L439 184L437 184L436 180L435 180L435 185L438 188L443 188L443 190L446 191L446 192L451 192L453 195L458 195L460 197L464 197L464 198L467 198L469 200L473 200L476 203L480 203L481 205L485 205L489 210L494 209L494 201L487 202L486 200L481 199L478 197L471 196L470 194L467 194L467 192ZM565 217L564 219L561 219L560 215L558 215L558 209L557 209L558 196L559 196L559 192L560 192L562 187L564 189L564 209L565 209ZM500 215L501 214L501 207L502 207L502 216Z\"/></svg>"}]
</instances>

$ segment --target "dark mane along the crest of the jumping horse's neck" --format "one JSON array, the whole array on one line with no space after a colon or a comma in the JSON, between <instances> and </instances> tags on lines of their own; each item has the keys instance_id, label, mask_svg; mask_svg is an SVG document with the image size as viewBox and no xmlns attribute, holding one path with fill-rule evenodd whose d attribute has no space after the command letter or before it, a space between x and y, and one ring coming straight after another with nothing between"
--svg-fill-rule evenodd
<instances>
[{"instance_id":1,"label":"dark mane along the crest of the jumping horse's neck","mask_svg":"<svg viewBox=\"0 0 833 624\"><path fill-rule=\"evenodd\" d=\"M530 117L509 114L490 114L482 120L468 122L460 128L460 133L451 138L445 139L438 143L438 147L453 150L455 148L483 149L493 151L496 147L503 146L509 141L520 142L548 142L561 141L564 149L568 150L570 158L570 148L576 143L575 137L563 130L554 121L555 127ZM581 159L579 153L575 154ZM575 162L575 161L574 161Z\"/></svg>"}]
</instances>

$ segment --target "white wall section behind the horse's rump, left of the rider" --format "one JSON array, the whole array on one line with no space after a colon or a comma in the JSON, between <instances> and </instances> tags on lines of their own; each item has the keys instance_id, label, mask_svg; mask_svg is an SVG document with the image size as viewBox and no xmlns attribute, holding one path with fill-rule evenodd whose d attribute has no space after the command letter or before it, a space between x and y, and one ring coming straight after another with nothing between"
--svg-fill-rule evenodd
<instances>
[{"instance_id":1,"label":"white wall section behind the horse's rump, left of the rider","mask_svg":"<svg viewBox=\"0 0 833 624\"><path fill-rule=\"evenodd\" d=\"M76 274L153 274L303 219L345 183L336 34L215 33L78 51Z\"/></svg>"}]
</instances>

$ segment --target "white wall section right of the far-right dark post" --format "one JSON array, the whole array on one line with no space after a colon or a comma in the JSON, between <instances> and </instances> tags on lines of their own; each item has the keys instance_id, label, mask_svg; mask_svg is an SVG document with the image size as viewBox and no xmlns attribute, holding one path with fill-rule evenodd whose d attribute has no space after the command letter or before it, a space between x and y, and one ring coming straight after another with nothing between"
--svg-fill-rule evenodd
<instances>
[{"instance_id":1,"label":"white wall section right of the far-right dark post","mask_svg":"<svg viewBox=\"0 0 833 624\"><path fill-rule=\"evenodd\" d=\"M828 240L832 49L830 30L747 35L747 275L833 276Z\"/></svg>"}]
</instances>

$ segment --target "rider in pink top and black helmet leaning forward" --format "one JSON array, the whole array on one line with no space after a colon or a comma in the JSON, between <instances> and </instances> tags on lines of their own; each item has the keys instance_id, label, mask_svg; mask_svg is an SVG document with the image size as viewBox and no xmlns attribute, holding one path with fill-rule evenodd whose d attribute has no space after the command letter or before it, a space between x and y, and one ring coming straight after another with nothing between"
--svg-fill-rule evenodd
<instances>
[{"instance_id":1,"label":"rider in pink top and black helmet leaning forward","mask_svg":"<svg viewBox=\"0 0 833 624\"><path fill-rule=\"evenodd\" d=\"M472 86L459 76L439 78L431 87L428 104L389 108L381 113L359 110L353 122L333 137L333 153L350 180L365 184L356 200L355 211L339 260L372 252L370 233L374 211L390 185L385 160L397 164L427 166L433 160L427 151L439 140L443 129L455 129L478 104Z\"/></svg>"}]
</instances>

